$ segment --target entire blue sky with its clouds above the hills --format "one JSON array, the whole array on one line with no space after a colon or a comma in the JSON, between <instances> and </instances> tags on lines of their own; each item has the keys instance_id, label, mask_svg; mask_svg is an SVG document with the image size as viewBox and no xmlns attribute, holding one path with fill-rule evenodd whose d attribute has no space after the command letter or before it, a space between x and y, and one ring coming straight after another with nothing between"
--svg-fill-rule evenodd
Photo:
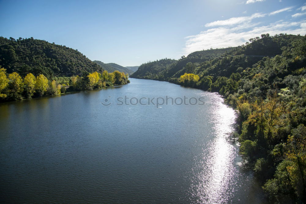
<instances>
[{"instance_id":1,"label":"entire blue sky with its clouds above the hills","mask_svg":"<svg viewBox=\"0 0 306 204\"><path fill-rule=\"evenodd\" d=\"M237 46L262 33L306 34L301 0L2 0L0 11L3 37L44 39L122 66Z\"/></svg>"}]
</instances>

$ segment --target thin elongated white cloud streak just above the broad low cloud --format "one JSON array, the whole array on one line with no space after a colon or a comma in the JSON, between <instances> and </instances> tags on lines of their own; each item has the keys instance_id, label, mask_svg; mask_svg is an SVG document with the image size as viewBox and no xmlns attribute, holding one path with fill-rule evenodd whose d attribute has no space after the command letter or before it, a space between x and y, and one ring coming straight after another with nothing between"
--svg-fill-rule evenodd
<instances>
[{"instance_id":1,"label":"thin elongated white cloud streak just above the broad low cloud","mask_svg":"<svg viewBox=\"0 0 306 204\"><path fill-rule=\"evenodd\" d=\"M227 20L217 20L217 21L205 24L205 27L232 26L236 24L247 23L247 22L250 22L254 18L264 17L265 15L266 14L254 13L252 16L233 17Z\"/></svg>"}]
</instances>

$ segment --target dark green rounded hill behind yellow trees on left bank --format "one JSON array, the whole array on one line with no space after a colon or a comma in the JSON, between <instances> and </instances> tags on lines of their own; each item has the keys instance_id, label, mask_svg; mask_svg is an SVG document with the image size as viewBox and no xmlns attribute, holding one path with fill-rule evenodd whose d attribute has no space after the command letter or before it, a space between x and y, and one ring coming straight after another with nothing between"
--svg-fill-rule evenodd
<instances>
[{"instance_id":1,"label":"dark green rounded hill behind yellow trees on left bank","mask_svg":"<svg viewBox=\"0 0 306 204\"><path fill-rule=\"evenodd\" d=\"M32 73L47 78L63 73L102 72L103 69L78 50L33 38L0 37L0 65L8 73Z\"/></svg>"}]
</instances>

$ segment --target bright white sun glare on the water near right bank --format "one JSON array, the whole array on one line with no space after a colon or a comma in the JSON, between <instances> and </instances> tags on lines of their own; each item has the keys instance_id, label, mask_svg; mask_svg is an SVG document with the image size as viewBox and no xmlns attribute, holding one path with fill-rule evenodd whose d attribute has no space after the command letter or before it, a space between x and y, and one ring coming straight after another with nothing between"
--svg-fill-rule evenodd
<instances>
[{"instance_id":1,"label":"bright white sun glare on the water near right bank","mask_svg":"<svg viewBox=\"0 0 306 204\"><path fill-rule=\"evenodd\" d=\"M237 173L233 160L236 156L233 144L229 141L230 133L233 131L235 111L222 103L222 99L216 98L210 111L214 117L212 140L203 149L199 163L199 173L196 173L200 181L195 184L195 196L198 202L228 202L233 193L233 177Z\"/></svg>"}]
</instances>

